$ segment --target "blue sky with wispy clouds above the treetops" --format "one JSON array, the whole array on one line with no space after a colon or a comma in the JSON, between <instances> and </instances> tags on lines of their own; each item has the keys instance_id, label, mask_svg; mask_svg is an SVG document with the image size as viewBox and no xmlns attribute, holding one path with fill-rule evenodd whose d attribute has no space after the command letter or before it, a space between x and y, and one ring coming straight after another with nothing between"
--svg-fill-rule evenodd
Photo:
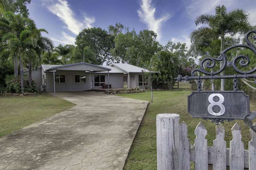
<instances>
[{"instance_id":1,"label":"blue sky with wispy clouds above the treetops","mask_svg":"<svg viewBox=\"0 0 256 170\"><path fill-rule=\"evenodd\" d=\"M200 14L213 14L216 5L228 10L243 8L256 25L255 0L31 0L30 18L46 29L55 46L74 44L76 35L87 27L108 29L121 22L137 32L150 29L165 45L168 40L190 45L189 33L197 27Z\"/></svg>"}]
</instances>

